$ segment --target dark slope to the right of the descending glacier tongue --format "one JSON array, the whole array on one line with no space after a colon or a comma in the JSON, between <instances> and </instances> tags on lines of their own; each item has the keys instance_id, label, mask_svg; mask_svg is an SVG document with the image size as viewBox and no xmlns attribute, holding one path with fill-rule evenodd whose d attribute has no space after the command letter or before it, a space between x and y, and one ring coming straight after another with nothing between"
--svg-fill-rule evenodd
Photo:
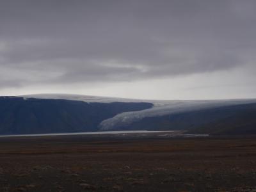
<instances>
[{"instance_id":1,"label":"dark slope to the right of the descending glacier tongue","mask_svg":"<svg viewBox=\"0 0 256 192\"><path fill-rule=\"evenodd\" d=\"M164 116L145 117L115 130L187 130L196 134L256 134L256 103L195 109Z\"/></svg>"}]
</instances>

